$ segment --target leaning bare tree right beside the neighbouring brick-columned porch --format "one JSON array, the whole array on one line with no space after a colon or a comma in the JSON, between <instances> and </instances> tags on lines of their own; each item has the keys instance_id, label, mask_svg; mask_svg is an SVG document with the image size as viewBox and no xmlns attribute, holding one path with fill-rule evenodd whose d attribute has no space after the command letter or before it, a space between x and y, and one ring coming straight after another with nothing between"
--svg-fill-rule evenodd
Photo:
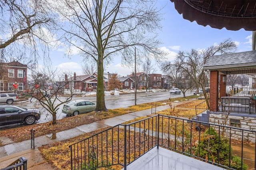
<instances>
[{"instance_id":1,"label":"leaning bare tree right beside the neighbouring brick-columned porch","mask_svg":"<svg viewBox=\"0 0 256 170\"><path fill-rule=\"evenodd\" d=\"M180 51L174 63L164 63L162 64L162 68L168 70L170 65L175 65L179 70L186 71L190 79L194 82L194 86L197 89L202 88L205 98L208 99L209 94L206 93L205 87L209 86L209 74L203 70L203 65L209 57L216 54L234 52L236 48L236 43L232 42L231 39L227 39L218 45L212 45L201 51L196 49L191 49L189 52ZM206 100L206 103L209 108L209 101Z\"/></svg>"}]
</instances>

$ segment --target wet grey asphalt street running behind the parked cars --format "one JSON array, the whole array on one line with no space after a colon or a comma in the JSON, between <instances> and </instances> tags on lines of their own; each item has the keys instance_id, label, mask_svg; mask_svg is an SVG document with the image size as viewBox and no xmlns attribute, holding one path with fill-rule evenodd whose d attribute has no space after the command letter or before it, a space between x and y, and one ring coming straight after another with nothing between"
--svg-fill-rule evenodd
<instances>
[{"instance_id":1,"label":"wet grey asphalt street running behind the parked cars","mask_svg":"<svg viewBox=\"0 0 256 170\"><path fill-rule=\"evenodd\" d=\"M186 93L186 96L193 95L193 93L188 92ZM136 96L136 104L142 104L142 103L148 103L148 102L155 102L155 101L161 101L169 98L176 98L176 97L183 97L183 94L170 94L168 91L162 91L162 92L150 92L150 93L137 93ZM73 97L72 100L77 99L86 99L88 101L92 101L96 103L96 97L92 96L86 96L86 97ZM60 100L63 101L64 97L60 97ZM35 101L23 101L14 103L17 106L20 107L27 107L27 108L33 108L38 107L42 113L41 118L36 123L44 123L51 121L51 114L48 113L41 105L38 104L38 102ZM105 105L107 109L116 109L116 108L126 108L128 106L135 105L135 94L125 94L125 95L110 95L105 96ZM63 107L63 104L60 105L58 112L57 112L57 119L62 119L67 117L66 114L62 113L61 109Z\"/></svg>"}]
</instances>

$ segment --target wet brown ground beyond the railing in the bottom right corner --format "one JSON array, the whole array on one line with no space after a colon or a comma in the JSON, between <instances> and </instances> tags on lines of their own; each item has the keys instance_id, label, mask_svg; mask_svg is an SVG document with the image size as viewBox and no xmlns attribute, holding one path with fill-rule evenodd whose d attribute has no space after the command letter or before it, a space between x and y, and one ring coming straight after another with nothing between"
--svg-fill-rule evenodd
<instances>
[{"instance_id":1,"label":"wet brown ground beyond the railing in the bottom right corner","mask_svg":"<svg viewBox=\"0 0 256 170\"><path fill-rule=\"evenodd\" d=\"M241 157L242 144L232 144L232 153ZM247 170L254 170L255 159L255 144L243 145L243 162L248 166Z\"/></svg>"}]
</instances>

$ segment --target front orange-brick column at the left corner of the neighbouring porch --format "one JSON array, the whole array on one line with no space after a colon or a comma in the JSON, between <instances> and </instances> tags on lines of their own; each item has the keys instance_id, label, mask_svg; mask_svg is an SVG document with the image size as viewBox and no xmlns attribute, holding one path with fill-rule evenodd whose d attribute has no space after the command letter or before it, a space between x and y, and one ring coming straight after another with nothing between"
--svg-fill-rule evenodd
<instances>
[{"instance_id":1,"label":"front orange-brick column at the left corner of the neighbouring porch","mask_svg":"<svg viewBox=\"0 0 256 170\"><path fill-rule=\"evenodd\" d=\"M210 111L218 111L219 72L210 71Z\"/></svg>"}]
</instances>

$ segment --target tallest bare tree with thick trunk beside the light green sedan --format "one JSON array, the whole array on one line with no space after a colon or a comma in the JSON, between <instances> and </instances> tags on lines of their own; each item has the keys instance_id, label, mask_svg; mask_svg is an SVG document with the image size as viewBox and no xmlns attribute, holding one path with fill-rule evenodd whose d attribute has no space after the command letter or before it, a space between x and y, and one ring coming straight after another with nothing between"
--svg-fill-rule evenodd
<instances>
[{"instance_id":1,"label":"tallest bare tree with thick trunk beside the light green sedan","mask_svg":"<svg viewBox=\"0 0 256 170\"><path fill-rule=\"evenodd\" d=\"M137 51L146 51L155 58L163 57L158 48L156 30L162 17L154 0L58 0L60 18L68 22L62 26L62 38L80 49L83 57L97 63L96 111L107 111L104 99L104 62L122 56L124 64L134 61ZM150 36L148 36L150 35Z\"/></svg>"}]
</instances>

